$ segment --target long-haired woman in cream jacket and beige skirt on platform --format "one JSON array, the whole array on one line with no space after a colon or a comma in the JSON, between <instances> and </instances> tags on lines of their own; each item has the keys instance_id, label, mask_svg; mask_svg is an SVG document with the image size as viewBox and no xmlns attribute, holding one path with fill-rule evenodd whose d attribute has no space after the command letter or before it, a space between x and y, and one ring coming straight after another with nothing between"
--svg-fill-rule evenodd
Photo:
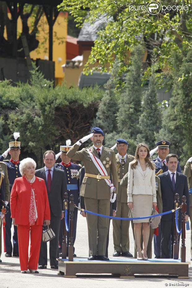
<instances>
[{"instance_id":1,"label":"long-haired woman in cream jacket and beige skirt on platform","mask_svg":"<svg viewBox=\"0 0 192 288\"><path fill-rule=\"evenodd\" d=\"M150 151L146 144L140 143L135 151L135 159L129 163L128 206L133 218L149 216L157 206L155 190L155 165L150 161ZM149 218L133 220L137 244L137 260L147 260L149 240ZM141 250L141 224L143 224L143 250Z\"/></svg>"}]
</instances>

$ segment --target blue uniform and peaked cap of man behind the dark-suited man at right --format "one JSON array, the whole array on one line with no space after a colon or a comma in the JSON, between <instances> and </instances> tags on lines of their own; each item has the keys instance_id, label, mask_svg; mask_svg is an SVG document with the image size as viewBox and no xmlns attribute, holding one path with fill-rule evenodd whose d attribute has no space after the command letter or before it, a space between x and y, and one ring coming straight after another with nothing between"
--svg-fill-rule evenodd
<instances>
[{"instance_id":1,"label":"blue uniform and peaked cap of man behind the dark-suited man at right","mask_svg":"<svg viewBox=\"0 0 192 288\"><path fill-rule=\"evenodd\" d=\"M157 147L158 147L158 157L151 160L155 163L155 175L158 176L166 171L168 171L168 167L166 165L166 161L165 161L165 157L168 155L169 153L169 145L171 143L167 140L161 140L159 142L156 143ZM159 150L161 149L167 149L166 153L164 154L164 159L161 159L159 157ZM177 172L181 173L181 167L179 165L177 165ZM161 228L160 228L160 224L159 224L159 231L158 231L159 235L154 235L154 254L155 254L155 258L160 258L161 256ZM169 241L169 252L170 252L170 257L171 257L171 239Z\"/></svg>"}]
</instances>

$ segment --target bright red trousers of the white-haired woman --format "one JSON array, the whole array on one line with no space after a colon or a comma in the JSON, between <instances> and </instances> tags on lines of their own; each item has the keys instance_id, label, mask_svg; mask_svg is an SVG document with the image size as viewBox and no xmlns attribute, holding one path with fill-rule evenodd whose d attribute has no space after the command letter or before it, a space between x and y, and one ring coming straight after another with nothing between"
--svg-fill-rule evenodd
<instances>
[{"instance_id":1,"label":"bright red trousers of the white-haired woman","mask_svg":"<svg viewBox=\"0 0 192 288\"><path fill-rule=\"evenodd\" d=\"M22 270L37 270L39 251L42 237L42 225L18 225L19 260ZM30 235L30 253L28 259Z\"/></svg>"}]
</instances>

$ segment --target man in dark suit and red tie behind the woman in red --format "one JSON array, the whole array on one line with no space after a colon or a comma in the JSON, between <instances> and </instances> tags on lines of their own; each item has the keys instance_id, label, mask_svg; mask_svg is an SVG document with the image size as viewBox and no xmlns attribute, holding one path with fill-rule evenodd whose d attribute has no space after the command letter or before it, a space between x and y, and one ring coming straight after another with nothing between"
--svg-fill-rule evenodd
<instances>
[{"instance_id":1,"label":"man in dark suit and red tie behind the woman in red","mask_svg":"<svg viewBox=\"0 0 192 288\"><path fill-rule=\"evenodd\" d=\"M56 236L49 244L50 267L52 269L58 269L58 261L56 258L59 258L59 227L60 220L63 219L64 216L62 209L64 193L67 192L67 183L65 172L54 167L55 153L52 150L44 153L43 162L45 167L36 170L35 175L44 179L46 183L51 214L50 227ZM42 241L38 268L47 268L47 243Z\"/></svg>"}]
</instances>

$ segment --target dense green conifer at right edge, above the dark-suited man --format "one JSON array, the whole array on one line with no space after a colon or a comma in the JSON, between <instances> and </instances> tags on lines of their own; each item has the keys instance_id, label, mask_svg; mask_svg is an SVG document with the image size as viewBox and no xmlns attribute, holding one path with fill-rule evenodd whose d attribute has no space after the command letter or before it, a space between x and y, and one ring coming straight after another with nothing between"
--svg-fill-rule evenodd
<instances>
[{"instance_id":1,"label":"dense green conifer at right edge, above the dark-suited man","mask_svg":"<svg viewBox=\"0 0 192 288\"><path fill-rule=\"evenodd\" d=\"M177 153L184 166L192 153L192 51L186 55L174 53L173 91L163 116L162 129L156 140L171 142L170 151Z\"/></svg>"}]
</instances>

